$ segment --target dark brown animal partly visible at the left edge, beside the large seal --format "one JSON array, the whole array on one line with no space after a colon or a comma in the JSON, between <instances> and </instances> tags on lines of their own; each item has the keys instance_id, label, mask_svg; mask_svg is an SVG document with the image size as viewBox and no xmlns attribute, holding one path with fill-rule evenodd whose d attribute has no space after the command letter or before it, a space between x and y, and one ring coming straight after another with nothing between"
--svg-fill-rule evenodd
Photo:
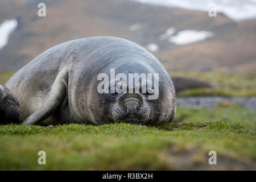
<instances>
[{"instance_id":1,"label":"dark brown animal partly visible at the left edge, beside the large seal","mask_svg":"<svg viewBox=\"0 0 256 182\"><path fill-rule=\"evenodd\" d=\"M13 93L0 83L0 125L18 123L20 118L19 104Z\"/></svg>"}]
</instances>

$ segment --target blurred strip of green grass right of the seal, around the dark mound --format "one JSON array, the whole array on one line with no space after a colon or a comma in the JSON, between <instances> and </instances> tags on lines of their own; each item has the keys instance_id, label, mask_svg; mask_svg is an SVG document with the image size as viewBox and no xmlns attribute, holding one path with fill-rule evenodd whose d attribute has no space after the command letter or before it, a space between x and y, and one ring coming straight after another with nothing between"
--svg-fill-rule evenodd
<instances>
[{"instance_id":1,"label":"blurred strip of green grass right of the seal, around the dark mound","mask_svg":"<svg viewBox=\"0 0 256 182\"><path fill-rule=\"evenodd\" d=\"M208 81L213 88L183 90L177 96L256 96L256 73L171 72L173 76Z\"/></svg>"}]
</instances>

